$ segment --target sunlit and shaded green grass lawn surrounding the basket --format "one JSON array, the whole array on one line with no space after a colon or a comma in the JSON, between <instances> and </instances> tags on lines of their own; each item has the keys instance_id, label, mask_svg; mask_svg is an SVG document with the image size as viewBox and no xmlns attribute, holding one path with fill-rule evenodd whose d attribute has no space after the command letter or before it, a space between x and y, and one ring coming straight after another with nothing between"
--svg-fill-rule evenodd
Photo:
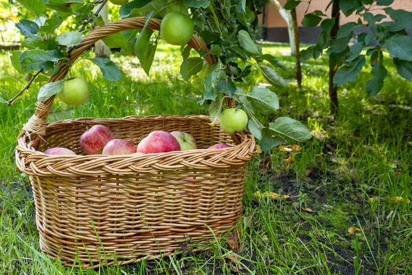
<instances>
[{"instance_id":1,"label":"sunlit and shaded green grass lawn surrounding the basket","mask_svg":"<svg viewBox=\"0 0 412 275\"><path fill-rule=\"evenodd\" d=\"M284 45L263 47L277 56L287 52ZM89 80L91 98L79 107L56 100L50 120L207 113L207 106L197 104L201 80L185 83L179 76L179 49L162 44L159 50L150 78L136 59L113 58L126 73L117 83L104 80L91 63L79 61L72 74ZM243 202L251 221L246 226L241 221L238 252L223 238L194 256L185 253L97 270L65 267L50 259L38 247L30 184L14 164L16 136L34 112L39 85L12 107L1 104L0 274L230 274L237 268L241 274L411 274L411 83L387 60L381 93L367 96L365 83L371 74L362 72L355 83L339 89L341 115L332 120L326 58L304 63L303 89L293 81L293 58L282 58L289 69L279 74L290 81L290 88L276 91L281 105L277 116L304 122L313 138L300 144L298 152L274 150L250 162ZM7 53L0 55L0 64L3 75L24 81L16 76ZM252 85L266 82L257 72L248 80ZM11 98L20 88L0 82L0 96ZM287 164L284 159L290 156L293 161ZM256 201L256 190L290 199ZM393 202L396 196L404 200ZM350 227L360 230L350 234ZM229 254L237 254L240 263L225 259Z\"/></svg>"}]
</instances>

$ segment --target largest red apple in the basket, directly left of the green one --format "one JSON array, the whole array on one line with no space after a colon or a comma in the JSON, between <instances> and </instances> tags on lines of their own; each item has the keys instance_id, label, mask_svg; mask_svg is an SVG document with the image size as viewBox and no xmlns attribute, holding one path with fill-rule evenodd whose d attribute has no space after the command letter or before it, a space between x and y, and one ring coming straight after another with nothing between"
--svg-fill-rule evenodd
<instances>
[{"instance_id":1,"label":"largest red apple in the basket, directly left of the green one","mask_svg":"<svg viewBox=\"0 0 412 275\"><path fill-rule=\"evenodd\" d=\"M176 137L165 131L153 131L137 144L137 153L165 153L180 151L180 144Z\"/></svg>"}]
</instances>

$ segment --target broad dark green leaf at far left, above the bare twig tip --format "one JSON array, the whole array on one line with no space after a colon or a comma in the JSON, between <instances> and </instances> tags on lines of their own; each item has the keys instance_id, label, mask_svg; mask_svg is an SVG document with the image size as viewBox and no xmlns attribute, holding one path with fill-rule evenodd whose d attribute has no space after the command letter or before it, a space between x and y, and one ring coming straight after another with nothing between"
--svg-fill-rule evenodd
<instances>
[{"instance_id":1,"label":"broad dark green leaf at far left, above the bare twig tip","mask_svg":"<svg viewBox=\"0 0 412 275\"><path fill-rule=\"evenodd\" d=\"M45 50L34 49L23 52L19 57L19 61L23 70L44 69L47 72L53 68L54 62L63 57L62 53L57 50L46 52Z\"/></svg>"}]
</instances>

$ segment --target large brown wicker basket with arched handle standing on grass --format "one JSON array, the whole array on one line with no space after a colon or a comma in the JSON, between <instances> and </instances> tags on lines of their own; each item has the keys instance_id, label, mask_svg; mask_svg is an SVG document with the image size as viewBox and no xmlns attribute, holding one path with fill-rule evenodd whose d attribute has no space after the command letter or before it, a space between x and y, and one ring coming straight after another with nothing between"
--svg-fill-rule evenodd
<instances>
[{"instance_id":1,"label":"large brown wicker basket with arched handle standing on grass","mask_svg":"<svg viewBox=\"0 0 412 275\"><path fill-rule=\"evenodd\" d=\"M144 18L124 19L91 31L71 51L71 62L104 36L142 28ZM152 19L148 28L159 30ZM195 50L207 47L196 36ZM205 56L209 63L213 56ZM65 78L60 64L52 81ZM233 228L242 214L247 162L255 141L247 133L229 135L211 127L206 116L130 116L80 118L47 123L54 97L37 102L16 146L16 163L30 175L41 249L66 265L86 267L132 263L179 253L181 245L203 250L213 238ZM137 144L155 130L185 131L198 149L149 155L45 155L51 147L81 154L79 137L104 124L116 138ZM236 142L233 142L236 140ZM207 150L218 142L231 148ZM208 225L209 230L205 225Z\"/></svg>"}]
</instances>

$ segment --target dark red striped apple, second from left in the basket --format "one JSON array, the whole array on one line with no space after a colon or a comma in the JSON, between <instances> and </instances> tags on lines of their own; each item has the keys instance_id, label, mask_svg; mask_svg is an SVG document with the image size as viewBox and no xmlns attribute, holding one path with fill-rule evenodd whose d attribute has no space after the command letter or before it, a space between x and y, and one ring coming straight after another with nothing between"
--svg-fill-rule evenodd
<instances>
[{"instance_id":1,"label":"dark red striped apple, second from left in the basket","mask_svg":"<svg viewBox=\"0 0 412 275\"><path fill-rule=\"evenodd\" d=\"M86 155L101 154L107 142L113 140L113 133L104 125L94 125L80 137L80 147Z\"/></svg>"}]
</instances>

